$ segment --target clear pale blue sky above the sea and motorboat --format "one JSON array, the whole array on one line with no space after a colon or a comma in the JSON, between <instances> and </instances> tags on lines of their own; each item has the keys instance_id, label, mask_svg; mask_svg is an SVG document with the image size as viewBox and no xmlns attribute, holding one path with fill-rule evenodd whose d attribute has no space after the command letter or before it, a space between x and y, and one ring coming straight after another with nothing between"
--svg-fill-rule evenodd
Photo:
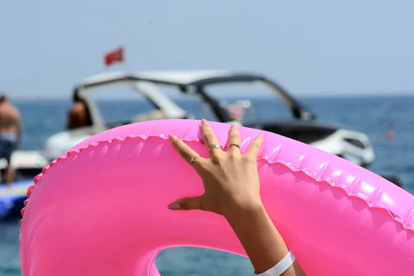
<instances>
[{"instance_id":1,"label":"clear pale blue sky above the sea and motorboat","mask_svg":"<svg viewBox=\"0 0 414 276\"><path fill-rule=\"evenodd\" d=\"M413 0L62 2L1 1L11 97L69 97L120 44L130 71L255 70L296 95L414 92Z\"/></svg>"}]
</instances>

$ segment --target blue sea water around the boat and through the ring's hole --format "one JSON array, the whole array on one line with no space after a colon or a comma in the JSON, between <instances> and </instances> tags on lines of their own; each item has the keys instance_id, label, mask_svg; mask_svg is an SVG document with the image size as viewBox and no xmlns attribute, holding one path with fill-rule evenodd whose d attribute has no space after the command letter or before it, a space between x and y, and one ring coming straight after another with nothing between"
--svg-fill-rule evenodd
<instances>
[{"instance_id":1,"label":"blue sea water around the boat and through the ring's hole","mask_svg":"<svg viewBox=\"0 0 414 276\"><path fill-rule=\"evenodd\" d=\"M288 110L275 99L250 99L248 118L288 117ZM414 97L329 97L302 99L322 121L342 124L366 132L375 148L376 160L369 168L377 174L395 175L404 188L414 193ZM179 99L177 103L196 118L213 119L199 101ZM37 150L50 135L64 129L69 101L15 101L24 126L23 146ZM145 101L101 101L107 121L129 119L151 110ZM252 115L252 117L250 117ZM385 139L386 126L395 125L395 139ZM0 276L21 275L19 268L19 226L0 224ZM252 275L243 257L203 248L168 248L156 260L161 275Z\"/></svg>"}]
</instances>

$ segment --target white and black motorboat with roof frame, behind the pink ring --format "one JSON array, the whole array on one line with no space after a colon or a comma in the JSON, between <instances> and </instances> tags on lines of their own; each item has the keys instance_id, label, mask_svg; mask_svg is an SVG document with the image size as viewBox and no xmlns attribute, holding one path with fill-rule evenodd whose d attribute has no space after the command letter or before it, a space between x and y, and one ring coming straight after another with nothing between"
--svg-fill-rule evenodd
<instances>
[{"instance_id":1,"label":"white and black motorboat with roof frame, behind the pink ring","mask_svg":"<svg viewBox=\"0 0 414 276\"><path fill-rule=\"evenodd\" d=\"M299 103L297 99L289 95L277 83L263 75L230 70L172 70L131 74L115 72L92 76L80 83L74 92L85 101L90 113L91 126L52 135L44 144L42 154L48 160L55 159L83 139L122 124L152 119L190 118L191 116L185 110L179 108L177 104L164 94L161 86L170 86L177 88L177 90L184 94L198 96L201 101L210 106L217 121L241 124L230 116L228 109L224 108L219 100L214 99L208 94L208 88L211 86L232 83L259 85L264 90L270 91L273 95L282 99L282 102L293 115L293 119L290 120L255 120L244 124L244 126L275 132L279 135L302 141L348 159L348 161L352 161L360 166L368 166L374 161L375 153L371 146L371 141L366 134L317 121L313 112L305 108L302 103ZM106 124L95 101L90 97L90 93L97 88L113 85L129 86L141 93L141 95L144 95L157 110L138 115L127 122Z\"/></svg>"}]
</instances>

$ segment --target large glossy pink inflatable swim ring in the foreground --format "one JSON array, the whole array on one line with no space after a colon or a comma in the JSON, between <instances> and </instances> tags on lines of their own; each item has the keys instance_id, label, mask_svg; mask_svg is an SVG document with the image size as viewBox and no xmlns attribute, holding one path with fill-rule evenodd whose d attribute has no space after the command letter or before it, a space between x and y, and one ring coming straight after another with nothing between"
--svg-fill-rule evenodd
<instances>
[{"instance_id":1,"label":"large glossy pink inflatable swim ring in the foreground","mask_svg":"<svg viewBox=\"0 0 414 276\"><path fill-rule=\"evenodd\" d=\"M201 195L168 133L208 156L199 121L131 124L95 135L43 169L22 210L23 276L159 275L172 246L246 255L224 217L172 211ZM226 124L210 123L223 148ZM240 128L242 152L259 132L264 205L307 275L413 275L414 198L372 172L286 137Z\"/></svg>"}]
</instances>

